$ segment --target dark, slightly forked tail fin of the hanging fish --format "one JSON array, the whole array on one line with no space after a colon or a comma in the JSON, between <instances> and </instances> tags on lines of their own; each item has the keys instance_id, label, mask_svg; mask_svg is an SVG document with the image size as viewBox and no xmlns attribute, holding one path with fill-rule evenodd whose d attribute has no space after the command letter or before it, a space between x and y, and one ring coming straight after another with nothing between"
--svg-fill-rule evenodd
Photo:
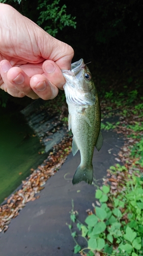
<instances>
[{"instance_id":1,"label":"dark, slightly forked tail fin of the hanging fish","mask_svg":"<svg viewBox=\"0 0 143 256\"><path fill-rule=\"evenodd\" d=\"M73 176L72 184L78 184L80 181L85 181L88 184L92 184L93 181L93 166L89 168L78 166Z\"/></svg>"}]
</instances>

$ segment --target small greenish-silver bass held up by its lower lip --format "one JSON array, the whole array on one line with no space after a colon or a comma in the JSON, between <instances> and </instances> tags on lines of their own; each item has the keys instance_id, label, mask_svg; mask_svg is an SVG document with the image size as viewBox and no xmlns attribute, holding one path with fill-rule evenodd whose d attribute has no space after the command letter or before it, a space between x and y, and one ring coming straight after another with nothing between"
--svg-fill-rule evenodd
<instances>
[{"instance_id":1,"label":"small greenish-silver bass held up by its lower lip","mask_svg":"<svg viewBox=\"0 0 143 256\"><path fill-rule=\"evenodd\" d=\"M68 104L69 131L73 134L73 156L80 151L80 164L73 176L72 183L93 182L93 153L103 144L100 131L101 108L97 89L91 72L83 59L71 64L71 70L62 70L66 83L64 91Z\"/></svg>"}]
</instances>

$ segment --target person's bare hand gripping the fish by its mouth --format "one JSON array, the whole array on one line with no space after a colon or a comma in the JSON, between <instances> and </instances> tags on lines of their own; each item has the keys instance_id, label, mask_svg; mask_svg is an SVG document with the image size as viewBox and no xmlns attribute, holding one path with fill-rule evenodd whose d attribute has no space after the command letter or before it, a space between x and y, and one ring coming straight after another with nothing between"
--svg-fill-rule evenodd
<instances>
[{"instance_id":1,"label":"person's bare hand gripping the fish by its mouth","mask_svg":"<svg viewBox=\"0 0 143 256\"><path fill-rule=\"evenodd\" d=\"M52 99L63 88L62 69L73 49L13 7L0 3L0 88L14 97Z\"/></svg>"}]
</instances>

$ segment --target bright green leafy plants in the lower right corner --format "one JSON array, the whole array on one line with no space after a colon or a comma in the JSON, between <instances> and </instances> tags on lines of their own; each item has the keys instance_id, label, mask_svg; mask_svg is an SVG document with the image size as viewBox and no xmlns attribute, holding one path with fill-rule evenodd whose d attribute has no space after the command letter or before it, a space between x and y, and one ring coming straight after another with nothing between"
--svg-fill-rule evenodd
<instances>
[{"instance_id":1,"label":"bright green leafy plants in the lower right corner","mask_svg":"<svg viewBox=\"0 0 143 256\"><path fill-rule=\"evenodd\" d=\"M76 242L74 253L88 250L87 256L96 255L96 251L102 255L143 255L143 177L136 172L129 175L127 168L119 164L112 166L112 170L114 174L123 172L127 180L124 179L124 186L120 184L120 190L114 194L109 185L96 190L95 198L100 207L95 206L95 213L85 219L85 224L78 221L78 212L74 211L72 202L71 236L75 242L79 235L87 242L85 248ZM76 231L72 230L74 223Z\"/></svg>"}]
</instances>

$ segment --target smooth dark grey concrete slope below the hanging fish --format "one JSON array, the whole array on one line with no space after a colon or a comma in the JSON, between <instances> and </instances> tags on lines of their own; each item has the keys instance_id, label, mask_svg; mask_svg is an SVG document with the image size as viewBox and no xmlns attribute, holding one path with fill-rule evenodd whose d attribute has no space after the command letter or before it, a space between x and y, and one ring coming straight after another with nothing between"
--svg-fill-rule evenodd
<instances>
[{"instance_id":1,"label":"smooth dark grey concrete slope below the hanging fish","mask_svg":"<svg viewBox=\"0 0 143 256\"><path fill-rule=\"evenodd\" d=\"M116 163L123 145L123 137L115 132L103 132L104 143L93 157L94 176L100 180L106 169ZM111 154L109 154L111 152ZM72 185L72 177L80 162L79 152L70 154L59 170L45 184L40 198L29 202L13 219L5 233L0 233L0 256L73 256L75 243L67 223L70 223L71 200L79 213L79 220L87 217L88 208L95 203L95 187L81 182ZM68 173L68 174L67 174ZM64 175L67 174L64 179ZM77 193L77 190L80 190ZM84 243L84 242L83 242Z\"/></svg>"}]
</instances>

